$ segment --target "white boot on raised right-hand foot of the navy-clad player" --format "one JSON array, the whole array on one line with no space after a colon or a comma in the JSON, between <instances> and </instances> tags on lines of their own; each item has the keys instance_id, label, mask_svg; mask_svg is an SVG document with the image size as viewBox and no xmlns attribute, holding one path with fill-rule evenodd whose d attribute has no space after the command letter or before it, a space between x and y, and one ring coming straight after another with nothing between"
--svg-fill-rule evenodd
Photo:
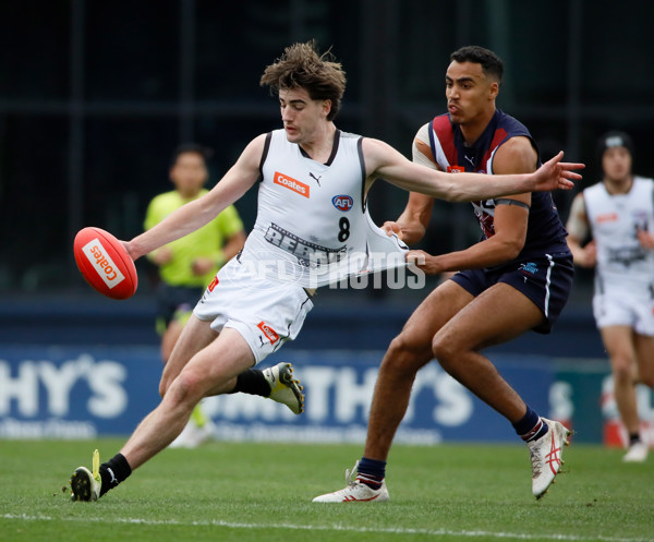
<instances>
[{"instance_id":1,"label":"white boot on raised right-hand foot of the navy-clad player","mask_svg":"<svg viewBox=\"0 0 654 542\"><path fill-rule=\"evenodd\" d=\"M541 498L564 463L562 447L568 446L568 435L572 434L562 423L541 418L549 427L537 441L526 443L532 463L532 493Z\"/></svg>"}]
</instances>

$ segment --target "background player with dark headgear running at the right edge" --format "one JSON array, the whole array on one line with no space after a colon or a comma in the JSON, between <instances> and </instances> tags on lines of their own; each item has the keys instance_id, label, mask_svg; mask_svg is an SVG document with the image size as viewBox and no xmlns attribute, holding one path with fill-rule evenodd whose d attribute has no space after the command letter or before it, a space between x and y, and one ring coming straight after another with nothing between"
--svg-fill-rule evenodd
<instances>
[{"instance_id":1,"label":"background player with dark headgear running at the right edge","mask_svg":"<svg viewBox=\"0 0 654 542\"><path fill-rule=\"evenodd\" d=\"M574 197L568 244L576 264L595 267L593 314L629 435L622 460L644 461L635 384L654 386L654 181L632 174L633 143L623 132L603 135L597 155L602 182Z\"/></svg>"}]
</instances>

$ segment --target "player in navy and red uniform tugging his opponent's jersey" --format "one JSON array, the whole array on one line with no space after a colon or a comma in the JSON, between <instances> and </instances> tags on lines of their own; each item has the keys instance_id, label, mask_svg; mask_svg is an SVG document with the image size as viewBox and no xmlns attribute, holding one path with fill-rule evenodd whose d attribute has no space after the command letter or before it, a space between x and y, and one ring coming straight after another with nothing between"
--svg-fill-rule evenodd
<instances>
[{"instance_id":1,"label":"player in navy and red uniform tugging his opponent's jersey","mask_svg":"<svg viewBox=\"0 0 654 542\"><path fill-rule=\"evenodd\" d=\"M455 178L463 172L535 171L541 160L529 131L495 107L501 59L469 46L455 51L450 60L445 76L447 113L419 130L413 160ZM433 207L434 198L411 193L397 221L384 227L411 246L424 237ZM392 439L417 371L434 359L504 415L526 443L536 498L558 473L569 430L531 409L482 351L529 330L549 333L572 286L566 230L549 194L511 194L473 202L473 207L483 231L480 242L447 254L407 254L427 274L456 274L420 304L382 361L356 480L314 501L389 498L385 475Z\"/></svg>"}]
</instances>

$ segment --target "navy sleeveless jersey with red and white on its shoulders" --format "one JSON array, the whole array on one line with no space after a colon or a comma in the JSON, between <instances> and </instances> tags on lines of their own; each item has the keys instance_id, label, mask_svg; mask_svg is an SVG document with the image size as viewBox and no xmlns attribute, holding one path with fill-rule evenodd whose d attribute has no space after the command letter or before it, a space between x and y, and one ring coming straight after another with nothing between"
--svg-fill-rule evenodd
<instances>
[{"instance_id":1,"label":"navy sleeveless jersey with red and white on its shoulders","mask_svg":"<svg viewBox=\"0 0 654 542\"><path fill-rule=\"evenodd\" d=\"M472 146L464 145L458 124L450 122L449 115L440 115L432 121L429 145L432 154L444 171L472 171L493 173L495 152L509 138L523 135L529 137L536 149L529 130L497 109L493 119ZM538 155L538 166L541 165ZM495 234L495 200L473 202L475 215L482 228L482 239ZM529 212L524 248L517 260L530 258L544 253L569 252L566 231L549 192L533 192Z\"/></svg>"}]
</instances>

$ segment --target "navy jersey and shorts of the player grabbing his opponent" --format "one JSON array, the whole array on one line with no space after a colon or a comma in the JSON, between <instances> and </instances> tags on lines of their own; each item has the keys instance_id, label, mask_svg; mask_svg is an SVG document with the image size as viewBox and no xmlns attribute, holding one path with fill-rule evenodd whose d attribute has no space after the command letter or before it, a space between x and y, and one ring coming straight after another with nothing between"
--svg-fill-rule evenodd
<instances>
[{"instance_id":1,"label":"navy jersey and shorts of the player grabbing his opponent","mask_svg":"<svg viewBox=\"0 0 654 542\"><path fill-rule=\"evenodd\" d=\"M444 171L470 171L492 174L496 153L513 137L529 141L541 165L537 147L529 130L513 117L496 109L488 124L472 144L450 115L436 117L428 125L428 144L436 165ZM419 135L420 136L420 135ZM567 231L548 193L532 193L531 202L499 197L473 202L482 229L482 240L495 236L495 212L500 205L523 206L528 210L524 242L509 261L483 268L462 268L452 280L473 296L501 281L513 286L534 302L545 320L535 332L549 333L565 306L572 287L572 255L566 242Z\"/></svg>"}]
</instances>

